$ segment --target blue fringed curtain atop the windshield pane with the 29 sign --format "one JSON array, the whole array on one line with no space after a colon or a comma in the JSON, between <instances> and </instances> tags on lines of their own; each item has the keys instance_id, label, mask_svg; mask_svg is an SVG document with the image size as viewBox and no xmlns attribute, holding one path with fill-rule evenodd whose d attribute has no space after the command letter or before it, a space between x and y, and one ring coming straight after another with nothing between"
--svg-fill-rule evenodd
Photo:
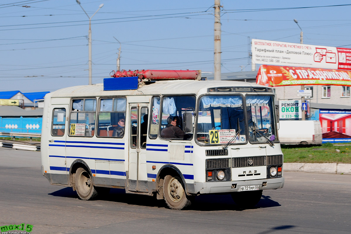
<instances>
[{"instance_id":1,"label":"blue fringed curtain atop the windshield pane with the 29 sign","mask_svg":"<svg viewBox=\"0 0 351 234\"><path fill-rule=\"evenodd\" d=\"M243 101L241 97L233 97L233 96L205 96L201 98L200 109L208 108L208 107L241 107L243 105Z\"/></svg>"}]
</instances>

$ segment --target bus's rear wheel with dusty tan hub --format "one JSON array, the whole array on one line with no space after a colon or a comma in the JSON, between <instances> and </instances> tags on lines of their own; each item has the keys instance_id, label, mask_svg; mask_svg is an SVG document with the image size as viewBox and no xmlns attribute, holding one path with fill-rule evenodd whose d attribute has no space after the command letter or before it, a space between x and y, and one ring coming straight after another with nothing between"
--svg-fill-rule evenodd
<instances>
[{"instance_id":1,"label":"bus's rear wheel with dusty tan hub","mask_svg":"<svg viewBox=\"0 0 351 234\"><path fill-rule=\"evenodd\" d=\"M98 195L93 186L93 180L90 173L81 167L75 172L75 189L79 198L82 200L90 200Z\"/></svg>"}]
</instances>

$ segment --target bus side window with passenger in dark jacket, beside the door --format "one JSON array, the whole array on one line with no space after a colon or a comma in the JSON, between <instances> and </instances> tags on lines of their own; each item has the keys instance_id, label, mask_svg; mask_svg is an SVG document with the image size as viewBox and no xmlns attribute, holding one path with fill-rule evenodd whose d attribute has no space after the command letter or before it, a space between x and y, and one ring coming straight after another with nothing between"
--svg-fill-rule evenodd
<instances>
[{"instance_id":1,"label":"bus side window with passenger in dark jacket, beside the door","mask_svg":"<svg viewBox=\"0 0 351 234\"><path fill-rule=\"evenodd\" d=\"M125 129L126 98L101 98L97 136L122 138Z\"/></svg>"}]
</instances>

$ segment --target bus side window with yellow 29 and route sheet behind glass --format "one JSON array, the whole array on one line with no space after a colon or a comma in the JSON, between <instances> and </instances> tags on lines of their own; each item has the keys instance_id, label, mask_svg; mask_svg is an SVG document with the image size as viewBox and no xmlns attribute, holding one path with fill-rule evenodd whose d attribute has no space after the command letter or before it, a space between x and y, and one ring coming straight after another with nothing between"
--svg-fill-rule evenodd
<instances>
[{"instance_id":1,"label":"bus side window with yellow 29 and route sheet behind glass","mask_svg":"<svg viewBox=\"0 0 351 234\"><path fill-rule=\"evenodd\" d=\"M92 136L95 130L96 99L72 100L69 116L69 136Z\"/></svg>"}]
</instances>

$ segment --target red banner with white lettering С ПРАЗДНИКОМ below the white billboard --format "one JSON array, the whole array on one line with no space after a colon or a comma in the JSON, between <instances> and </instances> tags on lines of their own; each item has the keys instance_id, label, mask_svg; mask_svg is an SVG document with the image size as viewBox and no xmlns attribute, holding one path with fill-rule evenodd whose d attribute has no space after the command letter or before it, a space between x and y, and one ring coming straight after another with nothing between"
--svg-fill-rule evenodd
<instances>
[{"instance_id":1,"label":"red banner with white lettering \u0421 \u041f\u0420\u0410\u0417\u0414\u041d\u0418\u041a\u041e\u041c below the white billboard","mask_svg":"<svg viewBox=\"0 0 351 234\"><path fill-rule=\"evenodd\" d=\"M270 87L287 85L342 85L351 86L351 71L261 65L256 83Z\"/></svg>"}]
</instances>

